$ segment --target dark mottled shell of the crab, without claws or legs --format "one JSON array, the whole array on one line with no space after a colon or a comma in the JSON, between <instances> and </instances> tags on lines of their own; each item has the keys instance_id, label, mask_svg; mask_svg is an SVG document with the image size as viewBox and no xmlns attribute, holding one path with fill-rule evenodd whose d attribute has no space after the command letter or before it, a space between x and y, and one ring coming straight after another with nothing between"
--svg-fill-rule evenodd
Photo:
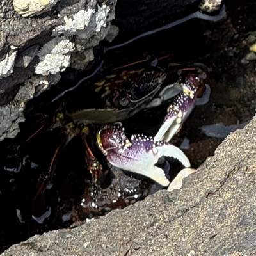
<instances>
[{"instance_id":1,"label":"dark mottled shell of the crab, without claws or legs","mask_svg":"<svg viewBox=\"0 0 256 256\"><path fill-rule=\"evenodd\" d=\"M67 115L74 121L86 120L86 124L124 120L147 106L161 89L164 79L166 74L158 68L126 70L108 75L94 84L95 92L102 99L102 106L67 110Z\"/></svg>"}]
</instances>

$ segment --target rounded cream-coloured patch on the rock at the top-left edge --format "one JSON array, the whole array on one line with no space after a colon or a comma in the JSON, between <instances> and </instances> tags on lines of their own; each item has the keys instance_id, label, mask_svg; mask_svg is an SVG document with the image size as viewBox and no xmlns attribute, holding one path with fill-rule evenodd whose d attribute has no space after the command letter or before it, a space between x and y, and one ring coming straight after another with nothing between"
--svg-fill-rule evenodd
<instances>
[{"instance_id":1,"label":"rounded cream-coloured patch on the rock at the top-left edge","mask_svg":"<svg viewBox=\"0 0 256 256\"><path fill-rule=\"evenodd\" d=\"M14 10L23 17L31 17L47 12L58 0L13 0Z\"/></svg>"}]
</instances>

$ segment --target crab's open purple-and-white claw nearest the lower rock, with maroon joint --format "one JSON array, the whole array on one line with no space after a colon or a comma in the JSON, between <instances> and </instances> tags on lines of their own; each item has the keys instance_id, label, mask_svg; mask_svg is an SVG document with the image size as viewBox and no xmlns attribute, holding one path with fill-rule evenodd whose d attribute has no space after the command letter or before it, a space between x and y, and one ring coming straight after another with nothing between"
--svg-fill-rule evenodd
<instances>
[{"instance_id":1,"label":"crab's open purple-and-white claw nearest the lower rock, with maroon joint","mask_svg":"<svg viewBox=\"0 0 256 256\"><path fill-rule=\"evenodd\" d=\"M170 181L155 165L159 158L173 157L185 167L190 166L188 157L179 148L139 134L132 135L130 141L120 126L104 126L97 134L97 143L113 166L149 177L162 186L168 186Z\"/></svg>"}]
</instances>

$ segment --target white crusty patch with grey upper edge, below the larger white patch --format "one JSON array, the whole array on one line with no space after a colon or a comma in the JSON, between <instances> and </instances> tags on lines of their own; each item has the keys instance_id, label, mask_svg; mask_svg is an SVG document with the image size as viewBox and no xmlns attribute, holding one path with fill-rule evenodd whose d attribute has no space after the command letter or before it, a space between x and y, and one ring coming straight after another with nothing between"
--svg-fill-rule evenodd
<instances>
[{"instance_id":1,"label":"white crusty patch with grey upper edge, below the larger white patch","mask_svg":"<svg viewBox=\"0 0 256 256\"><path fill-rule=\"evenodd\" d=\"M63 72L70 65L70 53L74 49L70 38L65 36L53 38L38 52L40 62L35 67L35 74L47 76Z\"/></svg>"}]
</instances>

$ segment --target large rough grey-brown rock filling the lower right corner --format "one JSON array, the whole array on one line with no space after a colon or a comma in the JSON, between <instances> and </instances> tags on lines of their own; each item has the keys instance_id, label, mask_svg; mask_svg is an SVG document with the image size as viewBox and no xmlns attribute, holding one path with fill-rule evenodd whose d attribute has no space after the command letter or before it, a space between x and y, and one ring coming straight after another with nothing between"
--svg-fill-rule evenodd
<instances>
[{"instance_id":1,"label":"large rough grey-brown rock filling the lower right corner","mask_svg":"<svg viewBox=\"0 0 256 256\"><path fill-rule=\"evenodd\" d=\"M255 255L256 117L228 136L180 191L159 191L2 255Z\"/></svg>"}]
</instances>

